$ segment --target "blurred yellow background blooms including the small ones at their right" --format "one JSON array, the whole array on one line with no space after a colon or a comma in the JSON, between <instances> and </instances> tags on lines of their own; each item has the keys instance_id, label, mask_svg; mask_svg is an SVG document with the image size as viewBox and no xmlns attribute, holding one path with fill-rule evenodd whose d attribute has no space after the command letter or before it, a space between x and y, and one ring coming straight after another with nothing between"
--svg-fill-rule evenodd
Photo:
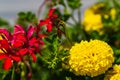
<instances>
[{"instance_id":1,"label":"blurred yellow background blooms including the small ones at their right","mask_svg":"<svg viewBox=\"0 0 120 80\"><path fill-rule=\"evenodd\" d=\"M98 3L86 9L82 22L85 31L90 32L92 30L95 30L98 31L99 34L103 34L102 29L104 27L104 24L102 22L102 16L105 19L108 19L109 16L112 18L112 20L115 19L116 10L114 8L111 8L107 12L105 11L106 13L103 13L104 10L102 10L102 8L105 8L105 4Z\"/></svg>"}]
</instances>

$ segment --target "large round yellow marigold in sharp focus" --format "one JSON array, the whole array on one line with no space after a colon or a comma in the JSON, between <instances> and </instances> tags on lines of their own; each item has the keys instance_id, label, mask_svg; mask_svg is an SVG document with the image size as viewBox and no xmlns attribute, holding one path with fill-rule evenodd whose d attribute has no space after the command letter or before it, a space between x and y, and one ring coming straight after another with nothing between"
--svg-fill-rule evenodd
<instances>
[{"instance_id":1,"label":"large round yellow marigold in sharp focus","mask_svg":"<svg viewBox=\"0 0 120 80\"><path fill-rule=\"evenodd\" d=\"M81 41L70 49L70 70L76 75L98 76L105 73L113 62L113 50L104 41Z\"/></svg>"}]
</instances>

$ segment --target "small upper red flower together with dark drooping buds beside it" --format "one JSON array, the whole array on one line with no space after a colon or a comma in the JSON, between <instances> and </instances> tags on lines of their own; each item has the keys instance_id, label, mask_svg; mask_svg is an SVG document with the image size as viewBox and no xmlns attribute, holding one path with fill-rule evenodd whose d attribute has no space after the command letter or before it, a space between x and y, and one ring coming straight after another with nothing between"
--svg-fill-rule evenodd
<instances>
[{"instance_id":1,"label":"small upper red flower together with dark drooping buds beside it","mask_svg":"<svg viewBox=\"0 0 120 80\"><path fill-rule=\"evenodd\" d=\"M49 13L48 13L48 17L45 20L40 20L39 26L42 27L42 26L46 25L47 32L51 32L53 27L56 27L57 35L58 35L58 37L61 38L62 33L64 33L60 29L60 23L62 22L62 20L60 20L58 18L58 15L55 14L55 10L56 10L56 8L50 9Z\"/></svg>"}]
</instances>

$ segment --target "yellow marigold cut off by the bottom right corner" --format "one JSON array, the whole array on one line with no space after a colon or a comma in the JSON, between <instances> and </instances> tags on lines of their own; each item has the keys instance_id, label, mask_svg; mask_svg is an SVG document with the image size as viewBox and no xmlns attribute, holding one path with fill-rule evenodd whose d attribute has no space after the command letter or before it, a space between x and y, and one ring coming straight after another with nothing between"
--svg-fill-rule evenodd
<instances>
[{"instance_id":1,"label":"yellow marigold cut off by the bottom right corner","mask_svg":"<svg viewBox=\"0 0 120 80\"><path fill-rule=\"evenodd\" d=\"M113 69L108 71L104 80L119 80L120 79L120 65L114 65Z\"/></svg>"}]
</instances>

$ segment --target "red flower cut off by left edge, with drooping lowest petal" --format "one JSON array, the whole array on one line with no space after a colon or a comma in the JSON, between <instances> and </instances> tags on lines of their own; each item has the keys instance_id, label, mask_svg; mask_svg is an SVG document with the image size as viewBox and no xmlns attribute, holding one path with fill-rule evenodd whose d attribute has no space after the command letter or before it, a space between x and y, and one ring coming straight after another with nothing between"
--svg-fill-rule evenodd
<instances>
[{"instance_id":1,"label":"red flower cut off by left edge, with drooping lowest petal","mask_svg":"<svg viewBox=\"0 0 120 80\"><path fill-rule=\"evenodd\" d=\"M2 52L0 52L0 60L5 59L3 63L4 70L10 69L12 67L13 61L19 62L21 60L19 55L14 54L8 40L0 40L0 49L2 50Z\"/></svg>"}]
</instances>

